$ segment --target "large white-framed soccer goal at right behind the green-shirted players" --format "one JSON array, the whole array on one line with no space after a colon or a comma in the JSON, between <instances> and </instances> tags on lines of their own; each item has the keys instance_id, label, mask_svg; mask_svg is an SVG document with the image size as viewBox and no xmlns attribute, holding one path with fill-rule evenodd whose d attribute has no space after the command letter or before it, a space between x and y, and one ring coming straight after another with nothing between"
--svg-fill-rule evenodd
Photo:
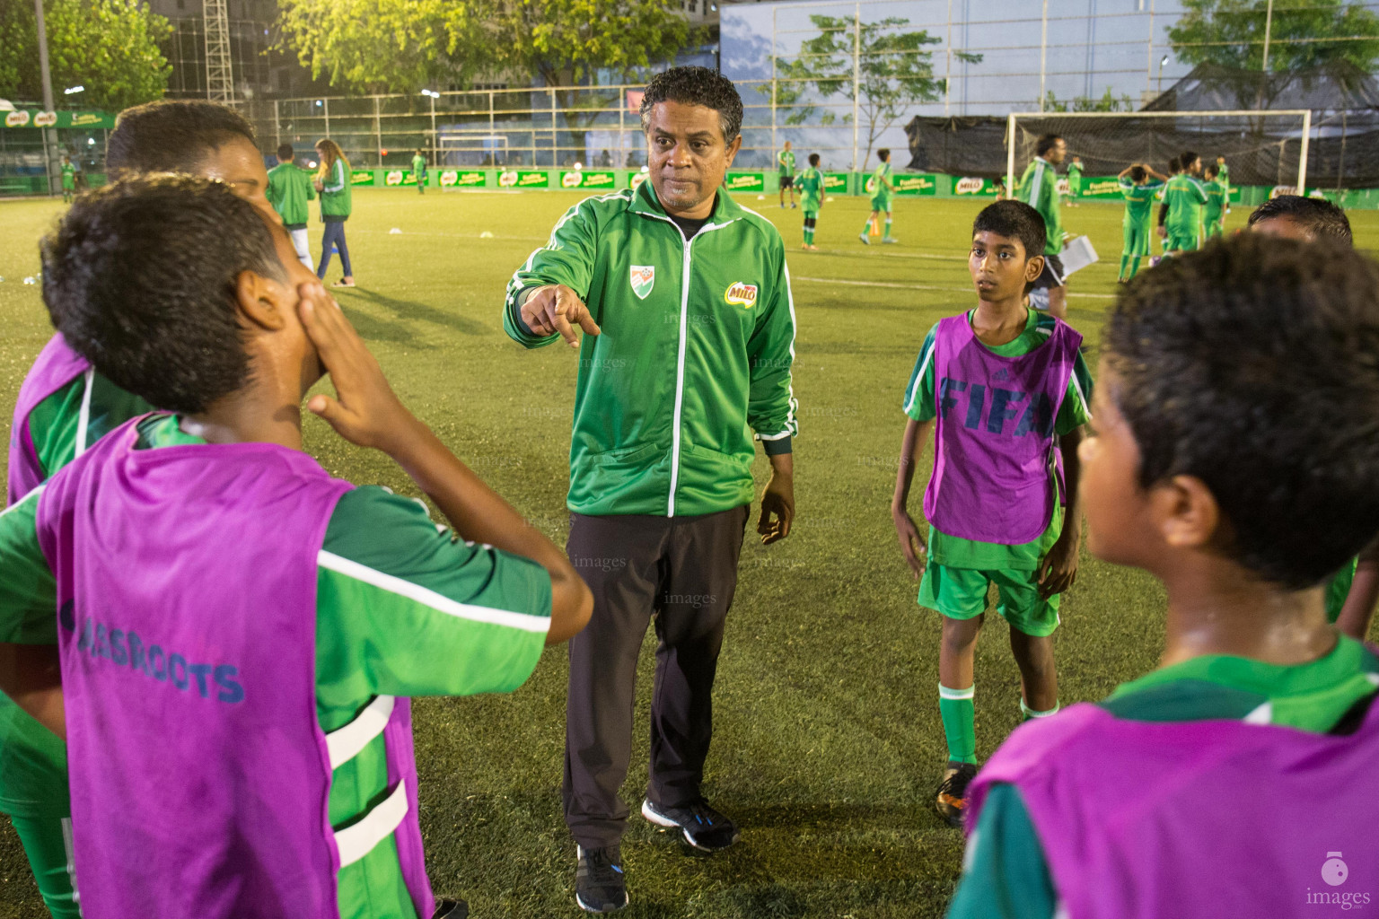
<instances>
[{"instance_id":1,"label":"large white-framed soccer goal at right behind the green-shirted players","mask_svg":"<svg viewBox=\"0 0 1379 919\"><path fill-rule=\"evenodd\" d=\"M1226 157L1230 185L1274 186L1306 194L1311 112L1012 112L1005 127L1005 182L1034 158L1038 139L1056 134L1067 143L1067 163L1083 158L1087 176L1117 175L1132 163L1160 172L1187 150L1202 165Z\"/></svg>"}]
</instances>

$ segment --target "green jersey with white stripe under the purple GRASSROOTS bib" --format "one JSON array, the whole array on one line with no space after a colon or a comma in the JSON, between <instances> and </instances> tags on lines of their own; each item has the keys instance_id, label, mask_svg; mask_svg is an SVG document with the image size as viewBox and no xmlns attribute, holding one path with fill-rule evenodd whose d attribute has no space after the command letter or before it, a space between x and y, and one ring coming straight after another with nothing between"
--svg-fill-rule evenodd
<instances>
[{"instance_id":1,"label":"green jersey with white stripe under the purple GRASSROOTS bib","mask_svg":"<svg viewBox=\"0 0 1379 919\"><path fill-rule=\"evenodd\" d=\"M146 449L204 444L172 415L150 416L139 433ZM57 588L36 532L39 493L0 515L6 642L57 643ZM421 503L375 486L339 499L316 591L316 715L325 733L379 694L512 692L535 668L550 617L550 576L539 565L437 530ZM531 624L467 619L455 613L461 603L519 613ZM353 823L386 795L383 743L379 734L332 772L332 827ZM416 915L392 836L342 868L338 890L342 919Z\"/></svg>"}]
</instances>

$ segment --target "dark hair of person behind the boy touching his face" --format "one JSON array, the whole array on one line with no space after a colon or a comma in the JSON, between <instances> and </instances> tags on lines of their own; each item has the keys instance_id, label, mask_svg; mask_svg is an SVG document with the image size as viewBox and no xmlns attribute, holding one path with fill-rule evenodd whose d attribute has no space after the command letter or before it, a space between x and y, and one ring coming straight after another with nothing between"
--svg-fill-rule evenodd
<instances>
[{"instance_id":1,"label":"dark hair of person behind the boy touching his face","mask_svg":"<svg viewBox=\"0 0 1379 919\"><path fill-rule=\"evenodd\" d=\"M105 164L116 176L131 172L196 172L208 153L254 128L234 109L203 99L160 99L125 109L114 120Z\"/></svg>"}]
</instances>

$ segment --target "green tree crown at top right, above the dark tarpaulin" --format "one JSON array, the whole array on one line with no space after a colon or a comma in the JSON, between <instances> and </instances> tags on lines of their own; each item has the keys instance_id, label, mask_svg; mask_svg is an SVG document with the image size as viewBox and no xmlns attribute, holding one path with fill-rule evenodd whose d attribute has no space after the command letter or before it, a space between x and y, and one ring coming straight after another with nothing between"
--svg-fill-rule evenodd
<instances>
[{"instance_id":1,"label":"green tree crown at top right, above the dark tarpaulin","mask_svg":"<svg viewBox=\"0 0 1379 919\"><path fill-rule=\"evenodd\" d=\"M1267 0L1183 0L1183 17L1168 29L1174 55L1191 65L1262 70L1267 12ZM1342 61L1373 70L1379 62L1379 15L1345 0L1274 3L1270 72L1307 70Z\"/></svg>"}]
</instances>

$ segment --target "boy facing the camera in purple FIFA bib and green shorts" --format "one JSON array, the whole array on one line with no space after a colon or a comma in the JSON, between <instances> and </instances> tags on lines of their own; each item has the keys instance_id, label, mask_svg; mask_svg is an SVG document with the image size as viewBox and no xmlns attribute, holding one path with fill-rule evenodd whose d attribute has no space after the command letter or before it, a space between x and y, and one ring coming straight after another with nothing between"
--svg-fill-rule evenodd
<instances>
[{"instance_id":1,"label":"boy facing the camera in purple FIFA bib and green shorts","mask_svg":"<svg viewBox=\"0 0 1379 919\"><path fill-rule=\"evenodd\" d=\"M996 609L1011 626L1020 710L1026 718L1058 711L1052 634L1059 594L1077 572L1076 451L1091 376L1081 336L1025 304L1043 251L1044 220L1030 205L998 201L978 215L968 258L978 306L929 331L905 394L910 420L891 517L905 559L923 576L920 605L943 617L939 714L947 766L935 805L954 827L976 774L972 670L992 584L1000 591ZM925 550L907 504L931 430ZM1073 492L1066 524L1063 478Z\"/></svg>"}]
</instances>

